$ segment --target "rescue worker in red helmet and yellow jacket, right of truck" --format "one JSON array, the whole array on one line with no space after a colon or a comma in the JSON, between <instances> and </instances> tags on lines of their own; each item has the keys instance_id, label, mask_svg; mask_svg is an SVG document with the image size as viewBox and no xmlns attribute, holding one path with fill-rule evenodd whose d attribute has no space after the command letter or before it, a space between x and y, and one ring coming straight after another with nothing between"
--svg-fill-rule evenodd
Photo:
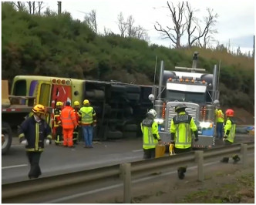
<instances>
[{"instance_id":1,"label":"rescue worker in red helmet and yellow jacket, right of truck","mask_svg":"<svg viewBox=\"0 0 256 205\"><path fill-rule=\"evenodd\" d=\"M224 137L223 141L225 145L231 145L234 143L234 134L236 129L236 123L234 122L234 110L227 109L225 112L227 116L226 123L224 126Z\"/></svg>"}]
</instances>

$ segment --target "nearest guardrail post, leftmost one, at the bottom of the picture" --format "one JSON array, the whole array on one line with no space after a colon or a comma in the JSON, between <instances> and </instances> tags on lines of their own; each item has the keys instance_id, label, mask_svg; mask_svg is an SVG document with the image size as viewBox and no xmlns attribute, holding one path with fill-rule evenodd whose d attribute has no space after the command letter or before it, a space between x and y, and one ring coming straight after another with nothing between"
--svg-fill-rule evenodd
<instances>
[{"instance_id":1,"label":"nearest guardrail post, leftmost one, at the bottom of the picture","mask_svg":"<svg viewBox=\"0 0 256 205\"><path fill-rule=\"evenodd\" d=\"M131 203L131 168L130 163L120 164L120 177L123 179L123 203Z\"/></svg>"}]
</instances>

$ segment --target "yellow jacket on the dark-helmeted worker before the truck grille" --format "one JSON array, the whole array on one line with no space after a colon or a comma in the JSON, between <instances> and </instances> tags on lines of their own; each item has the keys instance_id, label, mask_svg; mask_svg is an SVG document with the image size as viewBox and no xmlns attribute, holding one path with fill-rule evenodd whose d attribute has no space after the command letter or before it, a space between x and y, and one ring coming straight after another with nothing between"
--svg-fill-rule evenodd
<instances>
[{"instance_id":1,"label":"yellow jacket on the dark-helmeted worker before the truck grille","mask_svg":"<svg viewBox=\"0 0 256 205\"><path fill-rule=\"evenodd\" d=\"M194 123L193 117L186 112L180 112L177 116L173 116L170 122L170 133L174 133L175 147L178 149L187 149L192 144L192 133L197 131L197 125Z\"/></svg>"}]
</instances>

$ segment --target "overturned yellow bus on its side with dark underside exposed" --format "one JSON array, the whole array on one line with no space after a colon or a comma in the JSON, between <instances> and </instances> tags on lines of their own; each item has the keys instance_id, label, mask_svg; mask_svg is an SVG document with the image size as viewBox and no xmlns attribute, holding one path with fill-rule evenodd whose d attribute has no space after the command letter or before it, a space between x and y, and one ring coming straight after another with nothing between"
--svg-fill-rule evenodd
<instances>
[{"instance_id":1,"label":"overturned yellow bus on its side with dark underside exposed","mask_svg":"<svg viewBox=\"0 0 256 205\"><path fill-rule=\"evenodd\" d=\"M15 76L12 82L12 95L33 96L34 104L52 109L58 101L73 106L76 100L82 105L89 99L97 117L94 140L141 136L140 122L153 107L151 92L152 86L49 76Z\"/></svg>"}]
</instances>

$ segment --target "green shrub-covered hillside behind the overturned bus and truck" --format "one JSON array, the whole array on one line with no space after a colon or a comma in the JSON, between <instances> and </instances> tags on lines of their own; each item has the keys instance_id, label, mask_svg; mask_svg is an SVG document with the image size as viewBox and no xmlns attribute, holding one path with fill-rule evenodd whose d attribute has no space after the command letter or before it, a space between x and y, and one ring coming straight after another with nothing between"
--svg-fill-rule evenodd
<instances>
[{"instance_id":1,"label":"green shrub-covered hillside behind the overturned bus and truck","mask_svg":"<svg viewBox=\"0 0 256 205\"><path fill-rule=\"evenodd\" d=\"M214 65L221 68L221 106L254 113L254 58L231 55L224 45L168 49L114 33L96 34L67 12L29 15L2 2L2 79L10 84L14 76L35 75L153 85L161 60L167 70L190 67L195 51L198 68L210 73Z\"/></svg>"}]
</instances>

